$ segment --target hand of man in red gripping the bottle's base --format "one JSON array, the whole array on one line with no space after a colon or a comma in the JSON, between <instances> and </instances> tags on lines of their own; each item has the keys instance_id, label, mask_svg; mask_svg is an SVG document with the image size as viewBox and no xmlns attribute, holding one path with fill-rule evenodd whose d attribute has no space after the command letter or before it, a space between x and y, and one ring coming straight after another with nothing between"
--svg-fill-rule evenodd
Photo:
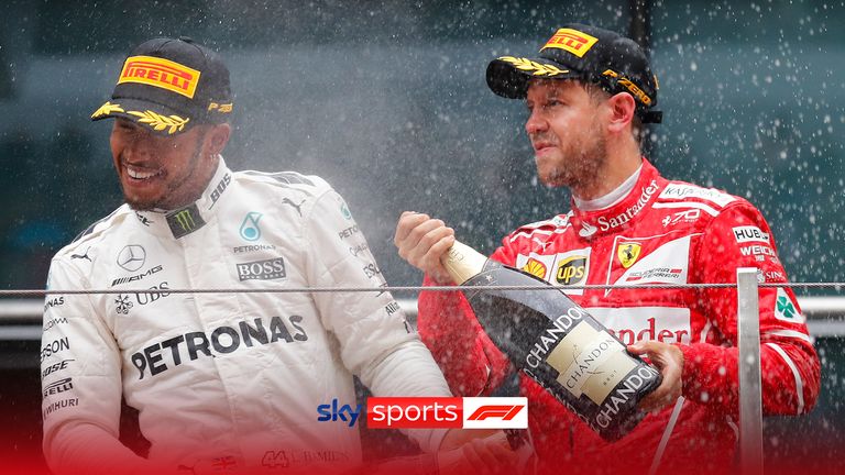
<instances>
[{"instance_id":1,"label":"hand of man in red gripping the bottle's base","mask_svg":"<svg viewBox=\"0 0 845 475\"><path fill-rule=\"evenodd\" d=\"M658 411L681 397L683 353L678 346L658 341L640 341L628 345L628 351L636 355L647 355L663 377L660 386L639 401L640 410Z\"/></svg>"}]
</instances>

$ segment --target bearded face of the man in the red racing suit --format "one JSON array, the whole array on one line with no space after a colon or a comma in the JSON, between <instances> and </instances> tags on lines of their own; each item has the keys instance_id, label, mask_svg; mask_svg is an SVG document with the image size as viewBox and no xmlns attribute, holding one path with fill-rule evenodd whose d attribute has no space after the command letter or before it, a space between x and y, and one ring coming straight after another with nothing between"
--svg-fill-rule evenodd
<instances>
[{"instance_id":1,"label":"bearded face of the man in the red racing suit","mask_svg":"<svg viewBox=\"0 0 845 475\"><path fill-rule=\"evenodd\" d=\"M602 100L573 80L533 80L526 104L540 180L577 196L594 187L607 163Z\"/></svg>"}]
</instances>

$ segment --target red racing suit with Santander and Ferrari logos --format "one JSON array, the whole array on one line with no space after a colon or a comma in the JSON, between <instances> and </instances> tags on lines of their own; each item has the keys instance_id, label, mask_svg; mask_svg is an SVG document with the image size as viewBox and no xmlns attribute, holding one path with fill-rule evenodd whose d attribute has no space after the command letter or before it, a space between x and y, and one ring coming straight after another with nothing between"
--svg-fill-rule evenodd
<instances>
[{"instance_id":1,"label":"red racing suit with Santander and Ferrari logos","mask_svg":"<svg viewBox=\"0 0 845 475\"><path fill-rule=\"evenodd\" d=\"M786 283L768 224L745 199L668 180L646 159L633 190L615 205L572 208L517 229L491 258L563 287L626 344L677 344L683 398L607 443L520 374L541 466L590 474L647 473L652 463L658 473L729 471L738 421L736 288L566 287L735 283L738 267L757 267L760 283ZM788 287L761 287L759 297L764 413L805 413L819 394L820 363L804 318ZM459 291L422 291L418 324L456 396L487 395L512 371ZM661 438L667 444L656 461Z\"/></svg>"}]
</instances>

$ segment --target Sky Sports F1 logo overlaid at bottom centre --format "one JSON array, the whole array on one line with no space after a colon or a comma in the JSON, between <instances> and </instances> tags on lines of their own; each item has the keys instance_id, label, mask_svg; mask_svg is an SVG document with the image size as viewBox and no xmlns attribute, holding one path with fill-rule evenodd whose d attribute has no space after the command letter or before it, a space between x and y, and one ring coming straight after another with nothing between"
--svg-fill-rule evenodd
<instances>
[{"instance_id":1,"label":"Sky Sports F1 logo overlaid at bottom centre","mask_svg":"<svg viewBox=\"0 0 845 475\"><path fill-rule=\"evenodd\" d=\"M524 397L371 397L363 405L337 399L317 407L317 421L353 427L366 417L370 429L527 429L528 400Z\"/></svg>"}]
</instances>

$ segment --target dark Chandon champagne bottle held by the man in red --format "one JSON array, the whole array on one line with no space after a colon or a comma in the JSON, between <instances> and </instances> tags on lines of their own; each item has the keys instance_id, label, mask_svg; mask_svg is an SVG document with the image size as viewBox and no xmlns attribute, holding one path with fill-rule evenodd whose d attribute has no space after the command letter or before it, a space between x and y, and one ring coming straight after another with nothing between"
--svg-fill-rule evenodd
<instances>
[{"instance_id":1,"label":"dark Chandon champagne bottle held by the man in red","mask_svg":"<svg viewBox=\"0 0 845 475\"><path fill-rule=\"evenodd\" d=\"M463 286L549 285L456 242L441 262ZM468 289L484 331L534 378L603 439L616 441L645 417L637 402L660 385L660 373L560 290Z\"/></svg>"}]
</instances>

